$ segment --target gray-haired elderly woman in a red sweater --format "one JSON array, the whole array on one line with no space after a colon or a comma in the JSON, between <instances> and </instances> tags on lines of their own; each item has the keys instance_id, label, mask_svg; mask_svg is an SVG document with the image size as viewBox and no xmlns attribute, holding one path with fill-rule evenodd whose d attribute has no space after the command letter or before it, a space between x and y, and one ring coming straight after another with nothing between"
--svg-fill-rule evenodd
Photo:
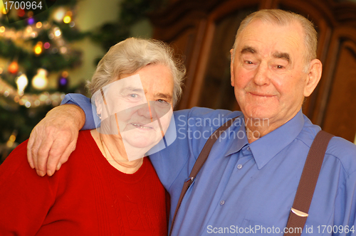
<instances>
[{"instance_id":1,"label":"gray-haired elderly woman in a red sweater","mask_svg":"<svg viewBox=\"0 0 356 236\"><path fill-rule=\"evenodd\" d=\"M62 171L39 177L27 141L0 166L0 235L167 235L167 192L145 153L162 139L184 68L159 41L128 38L88 87L98 128Z\"/></svg>"}]
</instances>

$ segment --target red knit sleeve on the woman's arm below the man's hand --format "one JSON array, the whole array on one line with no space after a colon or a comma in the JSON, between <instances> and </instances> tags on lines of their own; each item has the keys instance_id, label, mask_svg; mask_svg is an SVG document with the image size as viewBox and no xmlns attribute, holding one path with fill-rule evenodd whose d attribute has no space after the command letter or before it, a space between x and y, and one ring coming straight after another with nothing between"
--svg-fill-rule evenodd
<instances>
[{"instance_id":1,"label":"red knit sleeve on the woman's arm below the man's hand","mask_svg":"<svg viewBox=\"0 0 356 236\"><path fill-rule=\"evenodd\" d=\"M0 235L35 235L54 203L56 186L26 159L27 141L0 166Z\"/></svg>"}]
</instances>

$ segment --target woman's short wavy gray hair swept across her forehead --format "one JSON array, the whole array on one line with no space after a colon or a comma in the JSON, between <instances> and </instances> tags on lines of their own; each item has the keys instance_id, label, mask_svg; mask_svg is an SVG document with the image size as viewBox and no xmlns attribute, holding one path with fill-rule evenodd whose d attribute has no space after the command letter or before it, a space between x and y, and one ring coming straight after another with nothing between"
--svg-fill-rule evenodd
<instances>
[{"instance_id":1,"label":"woman's short wavy gray hair swept across her forehead","mask_svg":"<svg viewBox=\"0 0 356 236\"><path fill-rule=\"evenodd\" d=\"M105 85L120 79L120 75L132 74L146 65L166 65L174 80L173 106L182 95L185 67L174 58L173 49L154 39L127 38L113 45L98 63L88 89L92 95Z\"/></svg>"}]
</instances>

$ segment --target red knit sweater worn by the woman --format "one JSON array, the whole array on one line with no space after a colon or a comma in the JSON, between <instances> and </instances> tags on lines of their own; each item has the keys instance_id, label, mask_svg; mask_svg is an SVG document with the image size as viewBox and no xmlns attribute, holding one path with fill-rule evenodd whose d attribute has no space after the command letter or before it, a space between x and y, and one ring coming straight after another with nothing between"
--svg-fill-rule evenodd
<instances>
[{"instance_id":1,"label":"red knit sweater worn by the woman","mask_svg":"<svg viewBox=\"0 0 356 236\"><path fill-rule=\"evenodd\" d=\"M39 177L26 146L0 166L0 235L167 235L167 192L149 159L117 171L84 131L61 171Z\"/></svg>"}]
</instances>

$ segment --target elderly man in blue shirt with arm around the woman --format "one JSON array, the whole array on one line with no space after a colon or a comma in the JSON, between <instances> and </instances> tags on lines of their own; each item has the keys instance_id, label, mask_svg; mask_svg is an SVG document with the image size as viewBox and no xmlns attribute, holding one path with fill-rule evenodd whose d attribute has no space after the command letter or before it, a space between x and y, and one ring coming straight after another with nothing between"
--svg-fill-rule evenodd
<instances>
[{"instance_id":1,"label":"elderly man in blue shirt with arm around the woman","mask_svg":"<svg viewBox=\"0 0 356 236\"><path fill-rule=\"evenodd\" d=\"M313 24L303 16L261 10L244 19L231 49L231 85L242 113L204 108L175 112L177 139L150 156L171 195L172 220L184 180L209 135L239 116L216 141L189 187L172 235L283 234L310 145L320 131L301 111L321 77L316 46ZM80 104L90 127L90 103L78 96L67 95L64 102ZM46 168L53 174L66 161L74 146L65 147L75 144L83 119L78 107L66 105L38 124L28 160L39 174ZM334 137L302 235L356 235L355 212L356 146Z\"/></svg>"}]
</instances>

